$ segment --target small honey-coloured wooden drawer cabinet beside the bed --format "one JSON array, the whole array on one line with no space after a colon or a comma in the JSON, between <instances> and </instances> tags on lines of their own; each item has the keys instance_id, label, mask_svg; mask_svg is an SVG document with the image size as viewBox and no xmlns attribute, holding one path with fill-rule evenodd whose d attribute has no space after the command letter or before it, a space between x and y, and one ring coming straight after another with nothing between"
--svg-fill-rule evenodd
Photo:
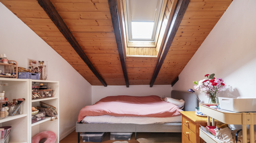
<instances>
[{"instance_id":1,"label":"small honey-coloured wooden drawer cabinet beside the bed","mask_svg":"<svg viewBox=\"0 0 256 143\"><path fill-rule=\"evenodd\" d=\"M197 116L195 111L181 111L182 143L203 143L199 136L200 125L207 126L207 117Z\"/></svg>"}]
</instances>

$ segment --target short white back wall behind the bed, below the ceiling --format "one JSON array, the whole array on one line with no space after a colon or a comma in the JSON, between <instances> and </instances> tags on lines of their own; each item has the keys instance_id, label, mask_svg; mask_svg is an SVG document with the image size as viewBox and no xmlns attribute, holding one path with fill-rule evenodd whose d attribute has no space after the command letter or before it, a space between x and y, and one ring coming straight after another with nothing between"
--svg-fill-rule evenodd
<instances>
[{"instance_id":1,"label":"short white back wall behind the bed, below the ceiling","mask_svg":"<svg viewBox=\"0 0 256 143\"><path fill-rule=\"evenodd\" d=\"M136 85L136 86L92 86L92 103L96 103L101 98L107 96L130 95L130 96L148 96L157 95L160 97L170 97L171 85Z\"/></svg>"}]
</instances>

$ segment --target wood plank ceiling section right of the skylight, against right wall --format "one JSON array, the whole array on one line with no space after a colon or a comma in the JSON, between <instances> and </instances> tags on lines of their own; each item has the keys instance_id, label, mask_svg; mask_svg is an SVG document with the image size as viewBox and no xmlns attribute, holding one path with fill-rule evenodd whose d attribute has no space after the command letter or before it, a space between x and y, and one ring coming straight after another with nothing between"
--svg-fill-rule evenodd
<instances>
[{"instance_id":1,"label":"wood plank ceiling section right of the skylight, against right wall","mask_svg":"<svg viewBox=\"0 0 256 143\"><path fill-rule=\"evenodd\" d=\"M173 83L231 2L232 0L190 0L155 84Z\"/></svg>"}]
</instances>

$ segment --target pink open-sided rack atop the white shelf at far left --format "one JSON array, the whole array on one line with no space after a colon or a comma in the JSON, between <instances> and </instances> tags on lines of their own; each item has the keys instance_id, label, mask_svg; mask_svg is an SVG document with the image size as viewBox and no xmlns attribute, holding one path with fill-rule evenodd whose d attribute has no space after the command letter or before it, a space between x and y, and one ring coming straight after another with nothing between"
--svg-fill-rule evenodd
<instances>
[{"instance_id":1,"label":"pink open-sided rack atop the white shelf at far left","mask_svg":"<svg viewBox=\"0 0 256 143\"><path fill-rule=\"evenodd\" d=\"M0 77L5 77L5 78L18 78L17 76L17 70L18 70L18 63L13 60L9 60L11 64L5 64L5 63L0 63L0 66L4 66L4 73L10 73L12 75L1 75Z\"/></svg>"}]
</instances>

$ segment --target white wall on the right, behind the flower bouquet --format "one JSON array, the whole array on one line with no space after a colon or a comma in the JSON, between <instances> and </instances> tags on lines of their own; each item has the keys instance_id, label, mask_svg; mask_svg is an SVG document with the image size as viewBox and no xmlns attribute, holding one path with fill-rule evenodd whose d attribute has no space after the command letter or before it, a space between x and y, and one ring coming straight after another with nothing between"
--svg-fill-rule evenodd
<instances>
[{"instance_id":1,"label":"white wall on the right, behind the flower bouquet","mask_svg":"<svg viewBox=\"0 0 256 143\"><path fill-rule=\"evenodd\" d=\"M205 74L223 78L219 97L256 97L256 1L234 0L179 75L174 90L193 88ZM199 91L197 91L198 94ZM208 102L200 94L200 99Z\"/></svg>"}]
</instances>

